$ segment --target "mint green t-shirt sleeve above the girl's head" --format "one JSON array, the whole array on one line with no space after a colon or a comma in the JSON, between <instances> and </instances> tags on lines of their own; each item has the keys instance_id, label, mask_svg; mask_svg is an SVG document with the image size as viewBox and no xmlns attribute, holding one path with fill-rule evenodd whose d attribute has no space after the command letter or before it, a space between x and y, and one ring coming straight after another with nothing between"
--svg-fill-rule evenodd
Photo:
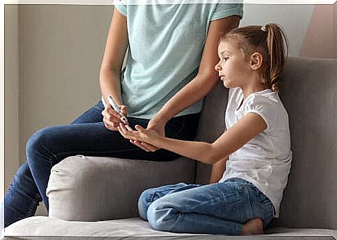
<instances>
[{"instance_id":1,"label":"mint green t-shirt sleeve above the girl's head","mask_svg":"<svg viewBox=\"0 0 337 240\"><path fill-rule=\"evenodd\" d=\"M217 6L211 17L211 21L238 15L243 18L243 4L241 3L217 3Z\"/></svg>"}]
</instances>

